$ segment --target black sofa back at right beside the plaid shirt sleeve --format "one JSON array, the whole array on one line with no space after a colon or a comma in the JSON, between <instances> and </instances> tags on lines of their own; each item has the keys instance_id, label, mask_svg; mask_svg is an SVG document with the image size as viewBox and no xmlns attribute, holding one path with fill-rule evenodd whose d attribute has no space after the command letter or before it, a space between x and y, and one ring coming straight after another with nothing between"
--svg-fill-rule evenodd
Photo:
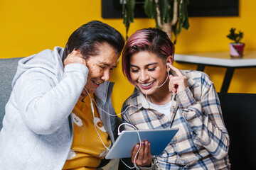
<instances>
[{"instance_id":1,"label":"black sofa back at right beside the plaid shirt sleeve","mask_svg":"<svg viewBox=\"0 0 256 170\"><path fill-rule=\"evenodd\" d=\"M254 169L256 152L256 94L219 93L230 136L231 169Z\"/></svg>"}]
</instances>

